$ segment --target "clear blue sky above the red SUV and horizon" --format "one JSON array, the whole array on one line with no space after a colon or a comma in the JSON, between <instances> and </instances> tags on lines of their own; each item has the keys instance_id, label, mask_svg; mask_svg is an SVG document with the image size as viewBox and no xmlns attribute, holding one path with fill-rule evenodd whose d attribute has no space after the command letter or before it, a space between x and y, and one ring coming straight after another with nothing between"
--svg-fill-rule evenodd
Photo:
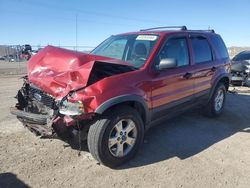
<instances>
[{"instance_id":1,"label":"clear blue sky above the red SUV and horizon","mask_svg":"<svg viewBox=\"0 0 250 188\"><path fill-rule=\"evenodd\" d=\"M208 27L227 46L250 46L250 0L0 0L0 44L96 46L142 28Z\"/></svg>"}]
</instances>

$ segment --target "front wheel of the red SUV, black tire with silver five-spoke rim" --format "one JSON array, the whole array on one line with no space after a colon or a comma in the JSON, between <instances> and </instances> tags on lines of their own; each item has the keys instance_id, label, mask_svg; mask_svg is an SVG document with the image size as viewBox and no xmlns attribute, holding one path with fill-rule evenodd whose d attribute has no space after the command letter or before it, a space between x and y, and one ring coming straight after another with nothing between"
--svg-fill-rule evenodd
<instances>
[{"instance_id":1,"label":"front wheel of the red SUV, black tire with silver five-spoke rim","mask_svg":"<svg viewBox=\"0 0 250 188\"><path fill-rule=\"evenodd\" d=\"M143 137L139 113L129 106L117 106L90 126L88 148L97 161L113 168L135 156Z\"/></svg>"}]
</instances>

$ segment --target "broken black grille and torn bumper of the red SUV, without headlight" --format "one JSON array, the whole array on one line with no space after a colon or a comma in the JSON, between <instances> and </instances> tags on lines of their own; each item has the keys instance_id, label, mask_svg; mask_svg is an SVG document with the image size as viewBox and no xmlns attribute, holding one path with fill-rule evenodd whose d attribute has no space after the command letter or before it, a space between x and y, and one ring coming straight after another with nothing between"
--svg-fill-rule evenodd
<instances>
[{"instance_id":1,"label":"broken black grille and torn bumper of the red SUV, without headlight","mask_svg":"<svg viewBox=\"0 0 250 188\"><path fill-rule=\"evenodd\" d=\"M26 76L16 99L18 103L10 112L16 115L25 127L44 137L54 134L52 124L58 114L58 106L52 96L30 84Z\"/></svg>"}]
</instances>

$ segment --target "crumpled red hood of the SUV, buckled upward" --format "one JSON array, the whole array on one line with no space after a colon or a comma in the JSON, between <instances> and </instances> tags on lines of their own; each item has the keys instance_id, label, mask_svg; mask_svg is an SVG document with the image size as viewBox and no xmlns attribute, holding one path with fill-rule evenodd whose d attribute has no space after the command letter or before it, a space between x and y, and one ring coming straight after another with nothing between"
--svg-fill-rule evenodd
<instances>
[{"instance_id":1,"label":"crumpled red hood of the SUV, buckled upward","mask_svg":"<svg viewBox=\"0 0 250 188\"><path fill-rule=\"evenodd\" d=\"M96 62L131 66L121 60L47 46L28 63L29 81L54 97L85 87Z\"/></svg>"}]
</instances>

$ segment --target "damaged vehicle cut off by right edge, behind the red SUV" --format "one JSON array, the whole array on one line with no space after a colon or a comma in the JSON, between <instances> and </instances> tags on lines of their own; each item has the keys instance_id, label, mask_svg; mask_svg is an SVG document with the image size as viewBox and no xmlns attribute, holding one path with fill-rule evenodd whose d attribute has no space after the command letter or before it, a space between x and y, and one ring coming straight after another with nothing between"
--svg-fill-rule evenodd
<instances>
[{"instance_id":1,"label":"damaged vehicle cut off by right edge, behind the red SUV","mask_svg":"<svg viewBox=\"0 0 250 188\"><path fill-rule=\"evenodd\" d=\"M250 86L250 51L243 51L232 59L232 85Z\"/></svg>"}]
</instances>

